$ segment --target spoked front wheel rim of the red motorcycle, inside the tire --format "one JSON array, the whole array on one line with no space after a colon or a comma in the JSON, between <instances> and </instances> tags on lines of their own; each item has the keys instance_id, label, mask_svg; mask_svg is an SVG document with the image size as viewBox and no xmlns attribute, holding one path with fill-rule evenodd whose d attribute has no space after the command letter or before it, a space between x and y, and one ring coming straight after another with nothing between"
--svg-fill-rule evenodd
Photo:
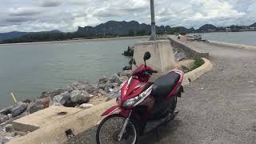
<instances>
[{"instance_id":1,"label":"spoked front wheel rim of the red motorcycle, inside the tire","mask_svg":"<svg viewBox=\"0 0 256 144\"><path fill-rule=\"evenodd\" d=\"M99 142L101 144L134 144L137 133L134 124L129 122L123 134L121 142L118 142L118 134L122 130L125 118L114 117L106 120L99 130Z\"/></svg>"}]
</instances>

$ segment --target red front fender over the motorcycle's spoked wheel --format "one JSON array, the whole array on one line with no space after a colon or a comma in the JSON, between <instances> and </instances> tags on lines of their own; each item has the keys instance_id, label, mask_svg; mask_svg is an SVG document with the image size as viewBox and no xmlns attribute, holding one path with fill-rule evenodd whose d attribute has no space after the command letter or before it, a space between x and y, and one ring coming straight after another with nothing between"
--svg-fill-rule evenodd
<instances>
[{"instance_id":1,"label":"red front fender over the motorcycle's spoked wheel","mask_svg":"<svg viewBox=\"0 0 256 144\"><path fill-rule=\"evenodd\" d=\"M120 114L123 117L127 118L130 113L130 109L124 109L121 106L112 106L110 109L106 110L102 116L107 116L110 114Z\"/></svg>"}]
</instances>

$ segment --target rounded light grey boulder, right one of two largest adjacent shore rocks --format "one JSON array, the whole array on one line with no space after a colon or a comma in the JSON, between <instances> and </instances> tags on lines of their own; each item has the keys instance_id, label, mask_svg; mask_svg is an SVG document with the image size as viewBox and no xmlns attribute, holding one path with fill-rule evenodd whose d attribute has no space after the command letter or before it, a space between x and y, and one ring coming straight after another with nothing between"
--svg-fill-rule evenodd
<instances>
[{"instance_id":1,"label":"rounded light grey boulder, right one of two largest adjacent shore rocks","mask_svg":"<svg viewBox=\"0 0 256 144\"><path fill-rule=\"evenodd\" d=\"M78 104L86 103L90 101L90 94L85 90L74 90L70 94L71 102L76 102Z\"/></svg>"}]
</instances>

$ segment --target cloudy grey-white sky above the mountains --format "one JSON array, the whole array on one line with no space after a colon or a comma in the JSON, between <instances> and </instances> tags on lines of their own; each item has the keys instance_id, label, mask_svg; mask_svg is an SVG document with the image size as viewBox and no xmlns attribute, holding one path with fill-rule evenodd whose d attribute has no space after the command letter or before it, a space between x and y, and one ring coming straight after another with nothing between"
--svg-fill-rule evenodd
<instances>
[{"instance_id":1,"label":"cloudy grey-white sky above the mountains","mask_svg":"<svg viewBox=\"0 0 256 144\"><path fill-rule=\"evenodd\" d=\"M154 0L158 26L251 25L256 0ZM0 0L0 33L75 31L110 20L150 24L150 0Z\"/></svg>"}]
</instances>

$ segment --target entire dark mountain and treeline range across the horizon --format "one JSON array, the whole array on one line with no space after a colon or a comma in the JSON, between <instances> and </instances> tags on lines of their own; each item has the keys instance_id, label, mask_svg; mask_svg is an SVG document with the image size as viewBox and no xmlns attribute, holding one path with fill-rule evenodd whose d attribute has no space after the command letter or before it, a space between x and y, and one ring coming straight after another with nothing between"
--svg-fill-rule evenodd
<instances>
[{"instance_id":1,"label":"entire dark mountain and treeline range across the horizon","mask_svg":"<svg viewBox=\"0 0 256 144\"><path fill-rule=\"evenodd\" d=\"M220 32L220 31L242 31L256 30L250 27L256 27L256 22L250 26L227 26L217 27L211 24L201 26L198 30L193 27L187 29L184 26L156 26L158 34L187 34L187 33L205 33L205 32ZM46 42L46 41L61 41L74 38L113 38L122 36L142 36L150 35L151 26L145 23L131 22L116 22L109 21L99 24L98 26L78 27L78 30L71 33L63 33L59 30L42 31L42 32L19 32L0 33L0 43L15 43L15 42Z\"/></svg>"}]
</instances>

